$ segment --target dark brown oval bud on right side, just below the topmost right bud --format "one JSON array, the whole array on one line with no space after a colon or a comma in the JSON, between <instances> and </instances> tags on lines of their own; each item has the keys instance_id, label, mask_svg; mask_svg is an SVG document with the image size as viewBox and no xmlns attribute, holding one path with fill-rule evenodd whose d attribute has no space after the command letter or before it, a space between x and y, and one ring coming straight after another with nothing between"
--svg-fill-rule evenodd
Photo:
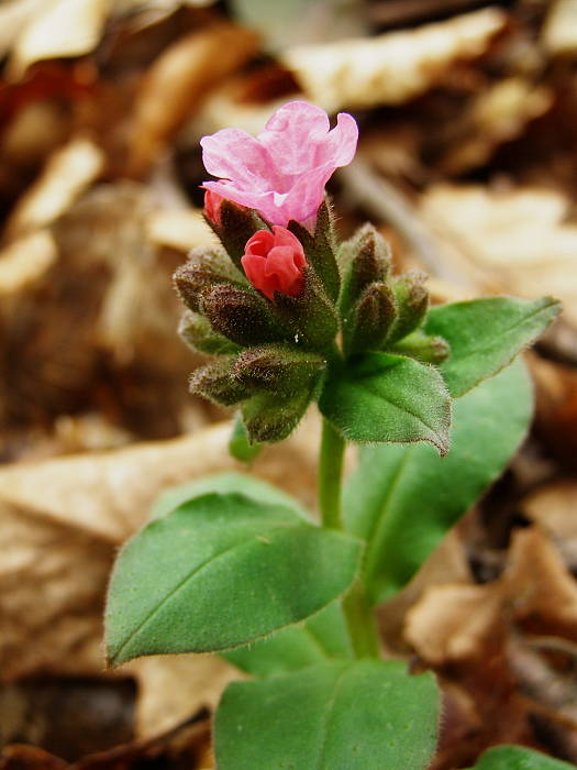
<instances>
[{"instance_id":1,"label":"dark brown oval bud on right side, just below the topmost right bud","mask_svg":"<svg viewBox=\"0 0 577 770\"><path fill-rule=\"evenodd\" d=\"M380 350L396 317L395 295L389 286L369 284L343 326L346 352Z\"/></svg>"}]
</instances>

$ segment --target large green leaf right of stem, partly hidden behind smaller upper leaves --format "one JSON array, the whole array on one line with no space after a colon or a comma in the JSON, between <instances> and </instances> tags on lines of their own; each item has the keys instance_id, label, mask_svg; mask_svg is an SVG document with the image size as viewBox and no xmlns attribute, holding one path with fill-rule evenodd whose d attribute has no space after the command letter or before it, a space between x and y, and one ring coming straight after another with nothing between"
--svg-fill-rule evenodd
<instances>
[{"instance_id":1,"label":"large green leaf right of stem, partly hidden behind smaller upper leaves","mask_svg":"<svg viewBox=\"0 0 577 770\"><path fill-rule=\"evenodd\" d=\"M373 603L413 576L445 532L503 470L526 433L532 388L521 361L454 405L451 452L371 447L344 493L347 529L368 541Z\"/></svg>"}]
</instances>

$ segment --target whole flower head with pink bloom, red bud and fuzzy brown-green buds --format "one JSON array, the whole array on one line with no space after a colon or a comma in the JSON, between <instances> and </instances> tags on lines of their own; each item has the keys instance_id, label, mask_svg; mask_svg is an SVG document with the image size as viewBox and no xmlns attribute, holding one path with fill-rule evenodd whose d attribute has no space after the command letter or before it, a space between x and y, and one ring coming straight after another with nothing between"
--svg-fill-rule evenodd
<instances>
[{"instance_id":1,"label":"whole flower head with pink bloom, red bud and fuzzy brown-green buds","mask_svg":"<svg viewBox=\"0 0 577 770\"><path fill-rule=\"evenodd\" d=\"M292 101L256 139L226 129L201 141L220 177L203 187L222 248L192 252L175 274L188 307L180 333L217 356L193 373L191 391L241 404L252 442L288 436L328 373L357 353L398 350L434 363L447 354L419 331L423 276L391 277L370 226L337 244L324 187L352 161L357 136L351 116L331 130L323 110Z\"/></svg>"}]
</instances>

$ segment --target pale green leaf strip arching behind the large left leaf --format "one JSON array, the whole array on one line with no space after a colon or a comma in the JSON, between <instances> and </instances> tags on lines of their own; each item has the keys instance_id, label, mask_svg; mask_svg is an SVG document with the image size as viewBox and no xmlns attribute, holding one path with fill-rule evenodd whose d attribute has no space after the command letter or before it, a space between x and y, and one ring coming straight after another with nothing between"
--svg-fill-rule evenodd
<instances>
[{"instance_id":1,"label":"pale green leaf strip arching behind the large left leaf","mask_svg":"<svg viewBox=\"0 0 577 770\"><path fill-rule=\"evenodd\" d=\"M211 492L221 494L237 492L259 503L284 505L287 508L292 508L298 516L307 520L309 518L303 506L291 495L257 476L249 475L248 473L237 473L236 471L224 471L210 476L202 476L201 479L196 479L192 482L181 484L180 486L174 486L163 492L153 505L151 518L166 516L175 510L175 508L182 505L182 503L187 503L193 497L200 497Z\"/></svg>"}]
</instances>

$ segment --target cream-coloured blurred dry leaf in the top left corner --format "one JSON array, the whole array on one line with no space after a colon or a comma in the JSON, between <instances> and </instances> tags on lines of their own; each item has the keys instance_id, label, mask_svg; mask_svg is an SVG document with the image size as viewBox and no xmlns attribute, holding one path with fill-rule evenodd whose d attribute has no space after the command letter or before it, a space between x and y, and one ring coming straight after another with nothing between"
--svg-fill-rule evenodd
<instances>
[{"instance_id":1,"label":"cream-coloured blurred dry leaf in the top left corner","mask_svg":"<svg viewBox=\"0 0 577 770\"><path fill-rule=\"evenodd\" d=\"M41 8L32 8L13 44L10 77L22 77L40 59L81 56L92 51L112 7L113 0L44 0Z\"/></svg>"}]
</instances>

